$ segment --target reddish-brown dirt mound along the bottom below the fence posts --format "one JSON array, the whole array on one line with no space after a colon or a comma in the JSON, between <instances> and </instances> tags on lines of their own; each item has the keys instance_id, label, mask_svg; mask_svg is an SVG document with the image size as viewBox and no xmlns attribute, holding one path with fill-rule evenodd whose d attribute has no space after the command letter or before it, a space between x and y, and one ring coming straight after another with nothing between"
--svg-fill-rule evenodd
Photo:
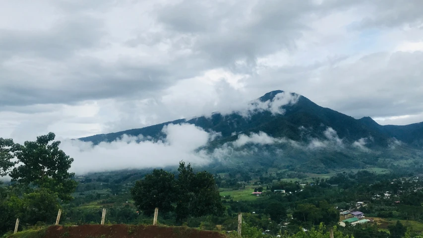
<instances>
[{"instance_id":1,"label":"reddish-brown dirt mound along the bottom below the fence posts","mask_svg":"<svg viewBox=\"0 0 423 238\"><path fill-rule=\"evenodd\" d=\"M83 225L51 226L43 238L226 238L218 232L199 231L187 227Z\"/></svg>"}]
</instances>

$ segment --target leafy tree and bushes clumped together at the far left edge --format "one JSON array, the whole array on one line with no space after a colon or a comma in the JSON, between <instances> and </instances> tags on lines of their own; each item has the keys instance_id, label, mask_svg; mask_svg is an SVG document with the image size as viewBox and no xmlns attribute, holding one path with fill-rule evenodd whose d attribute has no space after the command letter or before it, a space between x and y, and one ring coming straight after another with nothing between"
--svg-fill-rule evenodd
<instances>
[{"instance_id":1,"label":"leafy tree and bushes clumped together at the far left edge","mask_svg":"<svg viewBox=\"0 0 423 238\"><path fill-rule=\"evenodd\" d=\"M0 187L0 233L12 230L16 218L20 227L52 223L60 201L71 200L77 182L67 170L73 159L54 139L49 133L20 145L0 138L0 171L12 178L9 186ZM13 158L16 166L9 171Z\"/></svg>"}]
</instances>

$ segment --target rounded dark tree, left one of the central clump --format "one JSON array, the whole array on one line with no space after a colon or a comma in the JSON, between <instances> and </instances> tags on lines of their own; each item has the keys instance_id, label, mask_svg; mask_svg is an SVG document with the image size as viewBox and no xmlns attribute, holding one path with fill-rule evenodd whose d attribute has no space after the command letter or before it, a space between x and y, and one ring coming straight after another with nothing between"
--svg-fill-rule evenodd
<instances>
[{"instance_id":1,"label":"rounded dark tree, left one of the central clump","mask_svg":"<svg viewBox=\"0 0 423 238\"><path fill-rule=\"evenodd\" d=\"M131 189L135 206L146 215L154 213L156 207L161 212L173 211L176 202L175 175L164 170L153 170L143 180L135 182Z\"/></svg>"}]
</instances>

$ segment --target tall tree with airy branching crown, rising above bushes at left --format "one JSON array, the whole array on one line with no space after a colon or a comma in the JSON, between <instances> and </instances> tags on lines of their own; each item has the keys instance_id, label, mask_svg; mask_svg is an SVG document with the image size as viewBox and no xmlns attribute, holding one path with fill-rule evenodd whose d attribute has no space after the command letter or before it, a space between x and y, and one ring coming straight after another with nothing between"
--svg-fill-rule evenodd
<instances>
[{"instance_id":1,"label":"tall tree with airy branching crown, rising above bushes at left","mask_svg":"<svg viewBox=\"0 0 423 238\"><path fill-rule=\"evenodd\" d=\"M25 141L24 145L14 144L11 151L20 165L13 168L10 177L13 181L33 183L57 193L62 200L70 200L77 182L68 170L73 159L59 149L60 141L50 132L38 136L36 141Z\"/></svg>"}]
</instances>

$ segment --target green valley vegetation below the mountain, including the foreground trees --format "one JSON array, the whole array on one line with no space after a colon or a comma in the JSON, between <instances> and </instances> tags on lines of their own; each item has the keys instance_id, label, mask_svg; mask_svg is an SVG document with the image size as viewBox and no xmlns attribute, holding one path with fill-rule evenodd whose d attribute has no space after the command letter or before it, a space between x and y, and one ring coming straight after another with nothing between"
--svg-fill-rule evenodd
<instances>
[{"instance_id":1,"label":"green valley vegetation below the mountain, including the foreground trees","mask_svg":"<svg viewBox=\"0 0 423 238\"><path fill-rule=\"evenodd\" d=\"M0 234L12 231L19 218L20 231L31 229L15 236L19 238L37 238L43 225L54 223L59 208L63 225L99 224L103 208L107 224L150 225L158 207L161 225L223 231L237 230L241 212L244 238L326 238L331 231L335 238L417 238L423 232L423 179L415 175L419 166L326 174L265 169L267 165L216 167L213 175L181 162L177 170L74 177L68 173L73 160L59 150L53 133L24 145L0 143L0 171L13 179L0 186ZM13 158L19 164L12 165ZM364 205L358 206L359 201ZM374 222L340 227L344 217L339 213L345 210L361 211Z\"/></svg>"}]
</instances>

